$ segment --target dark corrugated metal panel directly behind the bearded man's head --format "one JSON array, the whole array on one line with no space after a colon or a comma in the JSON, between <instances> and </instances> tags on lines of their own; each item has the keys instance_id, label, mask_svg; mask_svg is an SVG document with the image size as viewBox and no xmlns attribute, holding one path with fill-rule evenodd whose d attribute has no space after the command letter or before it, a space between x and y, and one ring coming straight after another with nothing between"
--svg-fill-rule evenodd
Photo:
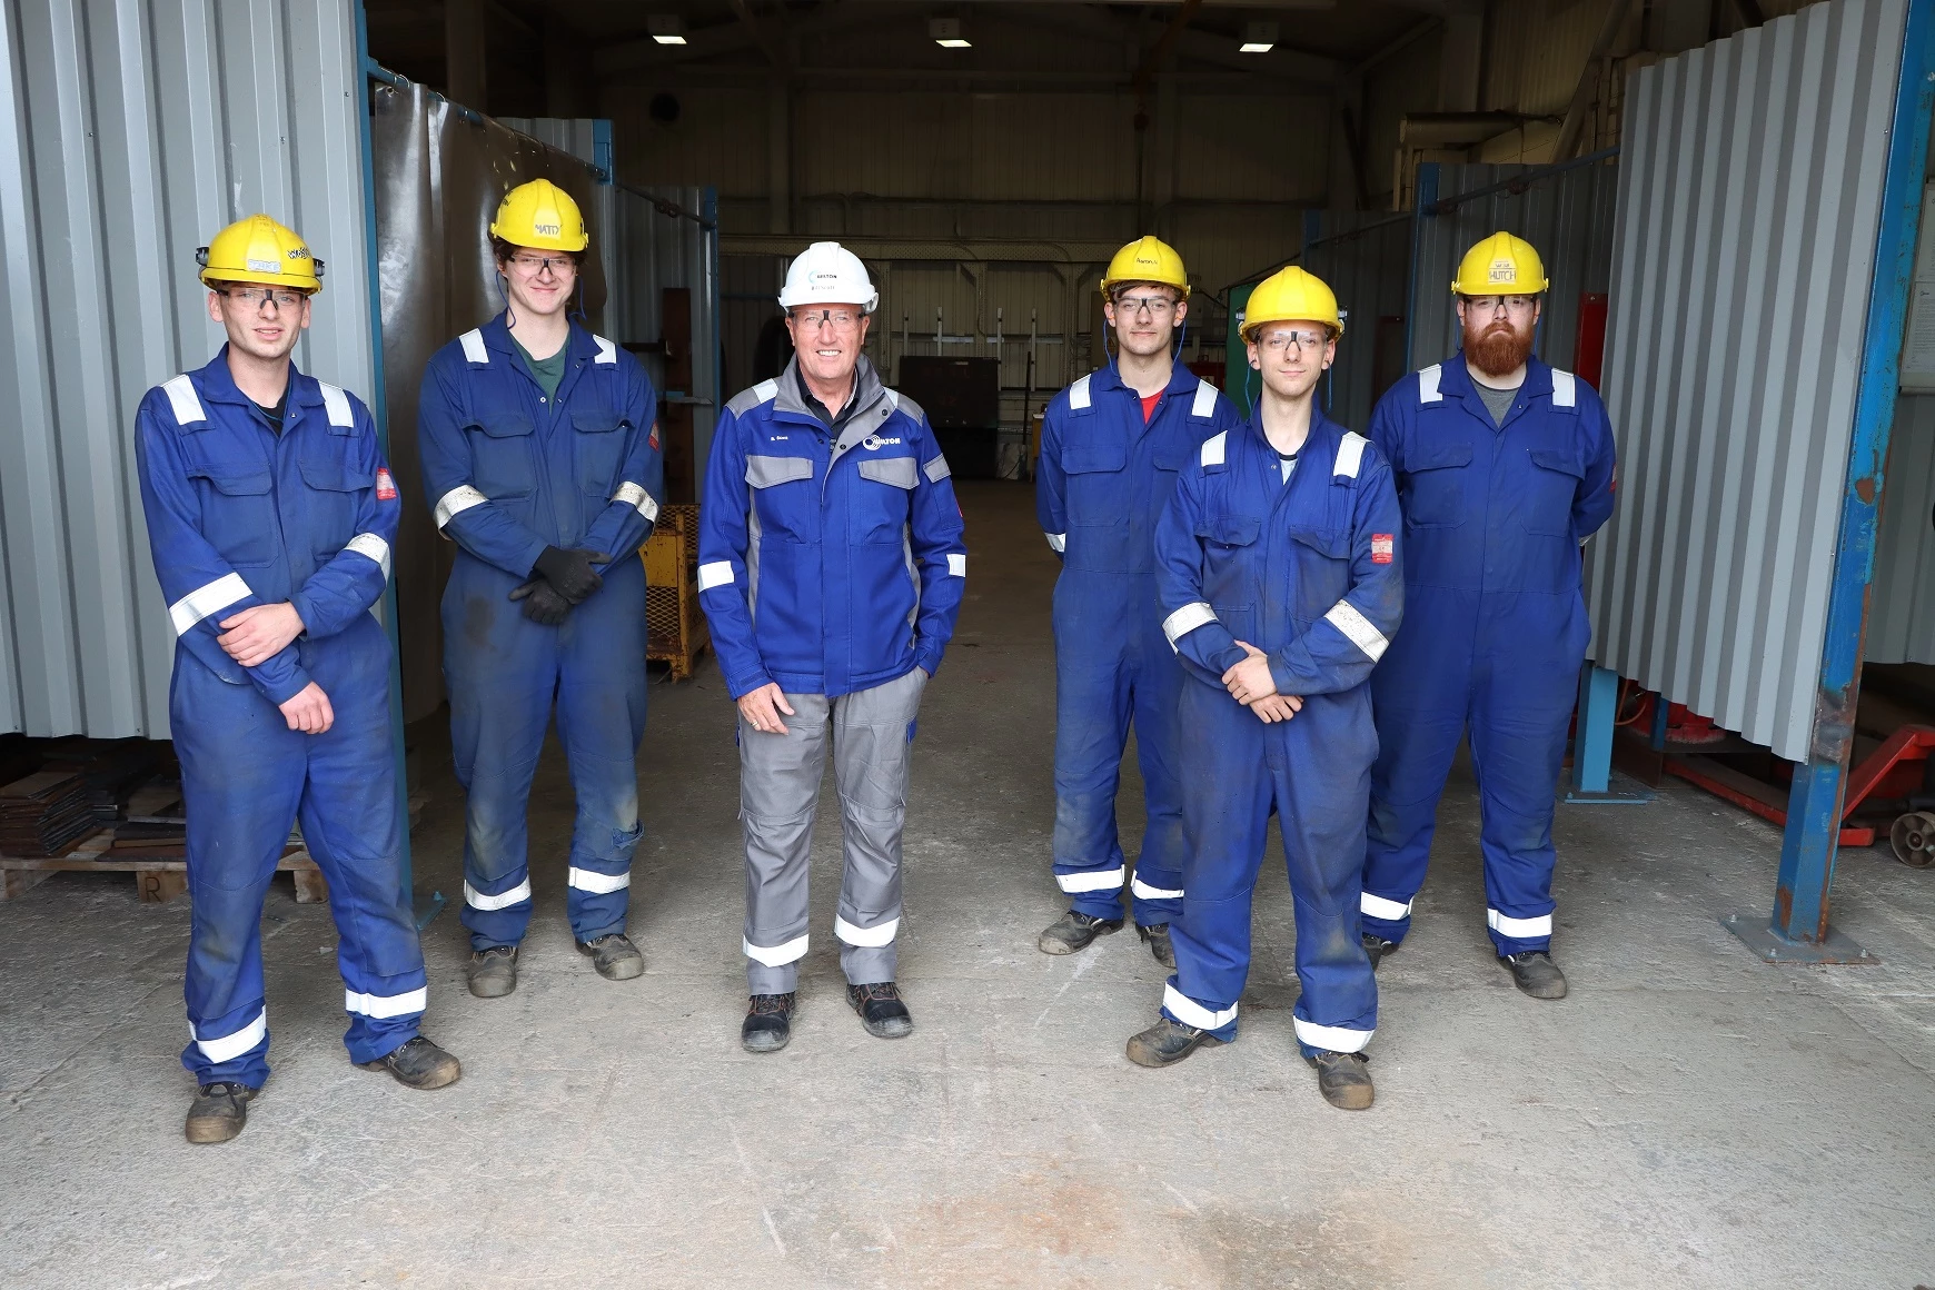
<instances>
[{"instance_id":1,"label":"dark corrugated metal panel directly behind the bearded man's head","mask_svg":"<svg viewBox=\"0 0 1935 1290\"><path fill-rule=\"evenodd\" d=\"M1533 166L1438 166L1438 197L1476 191L1534 170ZM1612 226L1618 201L1616 164L1579 166L1538 178L1523 193L1498 191L1418 220L1416 311L1411 321L1411 366L1436 364L1459 348L1451 279L1474 242L1500 228L1515 232L1546 261L1552 290L1538 323L1538 356L1571 367L1579 340L1579 296L1606 292L1612 275Z\"/></svg>"}]
</instances>

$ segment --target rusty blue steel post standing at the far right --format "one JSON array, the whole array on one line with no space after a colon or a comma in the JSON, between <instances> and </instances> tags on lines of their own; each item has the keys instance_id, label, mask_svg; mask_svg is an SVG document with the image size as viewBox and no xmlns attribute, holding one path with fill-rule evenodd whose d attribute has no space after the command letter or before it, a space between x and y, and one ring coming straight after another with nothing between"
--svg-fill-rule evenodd
<instances>
[{"instance_id":1,"label":"rusty blue steel post standing at the far right","mask_svg":"<svg viewBox=\"0 0 1935 1290\"><path fill-rule=\"evenodd\" d=\"M1929 104L1935 101L1935 0L1910 0L1902 41L1889 172L1875 238L1875 284L1867 300L1861 383L1854 402L1848 487L1840 505L1834 582L1829 594L1821 689L1815 696L1807 760L1794 772L1788 828L1780 843L1771 932L1788 942L1829 940L1829 888L1840 841L1854 710L1861 689L1867 584L1875 572L1875 520L1881 511L1889 431L1900 383L1902 325L1914 275L1916 222L1927 164Z\"/></svg>"}]
</instances>

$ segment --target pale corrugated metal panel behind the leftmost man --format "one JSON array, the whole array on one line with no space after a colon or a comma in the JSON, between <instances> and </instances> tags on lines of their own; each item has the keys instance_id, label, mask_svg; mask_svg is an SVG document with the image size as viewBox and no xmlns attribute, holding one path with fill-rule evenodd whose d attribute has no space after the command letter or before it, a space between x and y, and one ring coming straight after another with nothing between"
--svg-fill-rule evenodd
<instances>
[{"instance_id":1,"label":"pale corrugated metal panel behind the leftmost man","mask_svg":"<svg viewBox=\"0 0 1935 1290\"><path fill-rule=\"evenodd\" d=\"M134 410L221 346L194 253L255 211L327 261L298 366L370 391L354 4L8 0L0 103L0 731L166 737Z\"/></svg>"}]
</instances>

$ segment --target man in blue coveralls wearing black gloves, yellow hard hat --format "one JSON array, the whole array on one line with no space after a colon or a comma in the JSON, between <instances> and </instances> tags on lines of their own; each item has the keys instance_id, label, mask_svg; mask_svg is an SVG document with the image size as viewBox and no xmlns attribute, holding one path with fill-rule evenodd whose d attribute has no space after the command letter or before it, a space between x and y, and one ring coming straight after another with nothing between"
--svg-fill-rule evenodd
<instances>
[{"instance_id":1,"label":"man in blue coveralls wearing black gloves, yellow hard hat","mask_svg":"<svg viewBox=\"0 0 1935 1290\"><path fill-rule=\"evenodd\" d=\"M557 706L577 824L571 936L629 981L644 739L644 565L662 495L652 381L571 321L590 238L548 180L505 193L490 226L505 311L430 358L418 408L424 482L457 542L443 588L451 752L466 793L464 913L478 998L517 988L530 926L530 781Z\"/></svg>"}]
</instances>

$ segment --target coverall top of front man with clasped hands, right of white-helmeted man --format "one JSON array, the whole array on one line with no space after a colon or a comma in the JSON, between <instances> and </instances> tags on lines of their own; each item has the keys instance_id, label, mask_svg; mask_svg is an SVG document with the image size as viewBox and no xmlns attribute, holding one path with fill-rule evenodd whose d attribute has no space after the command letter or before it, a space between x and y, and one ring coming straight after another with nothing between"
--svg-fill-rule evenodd
<instances>
[{"instance_id":1,"label":"coverall top of front man with clasped hands, right of white-helmeted man","mask_svg":"<svg viewBox=\"0 0 1935 1290\"><path fill-rule=\"evenodd\" d=\"M1269 656L1279 694L1341 694L1370 679L1405 609L1391 468L1362 435L1310 410L1283 482L1258 422L1207 439L1155 534L1163 632L1217 689Z\"/></svg>"}]
</instances>

